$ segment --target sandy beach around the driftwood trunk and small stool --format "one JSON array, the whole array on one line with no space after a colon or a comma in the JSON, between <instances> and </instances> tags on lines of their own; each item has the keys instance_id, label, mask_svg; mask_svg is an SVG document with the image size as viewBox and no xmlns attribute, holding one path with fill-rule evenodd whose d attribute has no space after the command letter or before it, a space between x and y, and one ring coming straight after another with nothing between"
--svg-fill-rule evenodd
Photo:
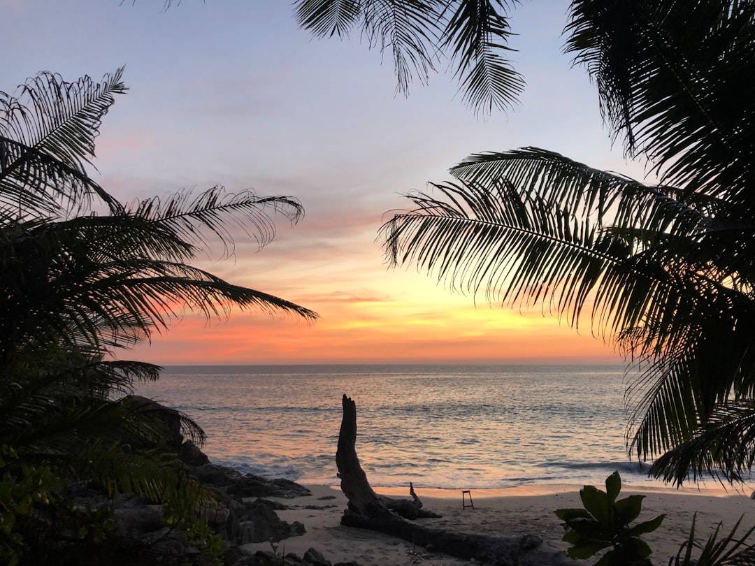
<instances>
[{"instance_id":1,"label":"sandy beach around the driftwood trunk and small stool","mask_svg":"<svg viewBox=\"0 0 755 566\"><path fill-rule=\"evenodd\" d=\"M307 534L283 540L279 552L294 552L301 556L313 547L331 562L353 560L364 566L470 564L460 558L413 548L411 543L387 535L342 527L340 520L346 506L346 497L341 490L323 485L307 485L307 488L312 491L310 497L279 500L290 507L278 511L280 518L289 522L300 521L307 528ZM581 506L580 488L581 485L550 484L472 490L474 509L462 507L461 491L417 489L417 493L427 509L443 515L442 518L424 519L424 524L428 526L506 537L537 534L544 540L544 544L565 550L567 545L561 540L564 531L553 511L562 507ZM376 491L393 497L408 497L406 488L378 488ZM740 531L744 532L755 524L755 500L750 499L750 491L727 493L720 488L640 490L626 486L619 497L630 494L646 495L640 520L655 518L661 513L667 515L657 531L644 537L654 550L652 558L655 564L667 564L668 559L676 555L680 544L689 536L695 512L699 539L707 539L722 521L723 532L728 533L743 514ZM270 544L248 544L244 548L250 551L269 551ZM590 561L578 561L575 564L590 564Z\"/></svg>"}]
</instances>

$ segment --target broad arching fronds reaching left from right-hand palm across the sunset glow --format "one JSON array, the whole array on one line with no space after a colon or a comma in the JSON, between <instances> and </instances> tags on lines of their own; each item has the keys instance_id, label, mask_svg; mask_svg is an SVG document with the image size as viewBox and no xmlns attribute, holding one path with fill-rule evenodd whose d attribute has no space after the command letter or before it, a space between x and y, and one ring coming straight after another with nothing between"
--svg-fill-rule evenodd
<instances>
[{"instance_id":1,"label":"broad arching fronds reaching left from right-hand palm across the sunset glow","mask_svg":"<svg viewBox=\"0 0 755 566\"><path fill-rule=\"evenodd\" d=\"M672 190L536 149L473 156L452 172L461 185L408 195L417 208L384 225L390 262L416 262L487 300L539 303L573 325L587 308L606 337L639 325L654 297L692 312L696 297L648 252L679 204ZM612 227L627 218L648 227Z\"/></svg>"}]
</instances>

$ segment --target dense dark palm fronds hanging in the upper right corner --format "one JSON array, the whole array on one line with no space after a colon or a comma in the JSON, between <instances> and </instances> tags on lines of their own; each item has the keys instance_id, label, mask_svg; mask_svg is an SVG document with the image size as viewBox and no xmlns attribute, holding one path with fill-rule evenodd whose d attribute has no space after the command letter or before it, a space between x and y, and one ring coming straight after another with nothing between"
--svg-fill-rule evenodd
<instances>
[{"instance_id":1,"label":"dense dark palm fronds hanging in the upper right corner","mask_svg":"<svg viewBox=\"0 0 755 566\"><path fill-rule=\"evenodd\" d=\"M755 7L738 0L577 0L566 51L595 78L629 155L647 155L664 183L751 209L753 23Z\"/></svg>"}]
</instances>

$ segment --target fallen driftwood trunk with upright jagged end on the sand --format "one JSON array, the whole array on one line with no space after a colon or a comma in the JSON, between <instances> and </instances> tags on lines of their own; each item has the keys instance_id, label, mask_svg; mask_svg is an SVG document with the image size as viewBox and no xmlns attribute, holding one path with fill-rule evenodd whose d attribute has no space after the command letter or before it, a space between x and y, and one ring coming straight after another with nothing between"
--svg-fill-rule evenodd
<instances>
[{"instance_id":1,"label":"fallen driftwood trunk with upright jagged end on the sand","mask_svg":"<svg viewBox=\"0 0 755 566\"><path fill-rule=\"evenodd\" d=\"M572 561L566 558L564 552L544 548L540 537L535 535L489 537L483 534L456 533L426 527L389 509L387 500L390 503L390 498L375 494L367 474L359 464L359 457L356 456L356 403L344 395L343 405L344 417L341 420L335 460L338 477L341 478L341 491L349 504L341 517L341 524L389 534L418 546L430 546L438 552L459 558L474 558L482 563L502 566L572 566ZM411 491L414 491L413 487ZM416 494L412 501L404 501L406 505L402 504L402 508L413 508L419 516L421 501Z\"/></svg>"}]
</instances>

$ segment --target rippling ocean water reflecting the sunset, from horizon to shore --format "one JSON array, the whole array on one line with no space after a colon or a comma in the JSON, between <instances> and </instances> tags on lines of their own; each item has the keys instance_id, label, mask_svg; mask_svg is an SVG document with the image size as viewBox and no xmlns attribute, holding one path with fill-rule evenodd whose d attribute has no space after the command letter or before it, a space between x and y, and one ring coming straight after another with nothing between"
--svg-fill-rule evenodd
<instances>
[{"instance_id":1,"label":"rippling ocean water reflecting the sunset, from horizon to shore","mask_svg":"<svg viewBox=\"0 0 755 566\"><path fill-rule=\"evenodd\" d=\"M193 417L216 463L337 485L341 398L374 486L658 485L625 446L621 365L174 366L136 392Z\"/></svg>"}]
</instances>

